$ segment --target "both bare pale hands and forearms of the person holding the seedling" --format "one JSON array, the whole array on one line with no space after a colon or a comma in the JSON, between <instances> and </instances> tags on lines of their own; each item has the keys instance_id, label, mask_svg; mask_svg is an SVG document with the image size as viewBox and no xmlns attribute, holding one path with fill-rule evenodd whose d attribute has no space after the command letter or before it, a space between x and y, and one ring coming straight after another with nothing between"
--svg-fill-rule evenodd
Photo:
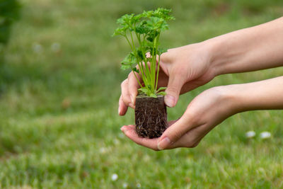
<instances>
[{"instance_id":1,"label":"both bare pale hands and forearms of the person holding the seedling","mask_svg":"<svg viewBox=\"0 0 283 189\"><path fill-rule=\"evenodd\" d=\"M236 30L161 55L158 86L167 86L165 103L174 107L179 95L207 84L221 74L283 66L283 17L252 28ZM283 74L282 74L283 75ZM121 84L119 115L134 108L139 84L132 73ZM196 147L216 125L248 110L283 109L283 76L249 84L216 86L200 93L178 120L156 139L138 137L134 125L122 132L154 150Z\"/></svg>"}]
</instances>

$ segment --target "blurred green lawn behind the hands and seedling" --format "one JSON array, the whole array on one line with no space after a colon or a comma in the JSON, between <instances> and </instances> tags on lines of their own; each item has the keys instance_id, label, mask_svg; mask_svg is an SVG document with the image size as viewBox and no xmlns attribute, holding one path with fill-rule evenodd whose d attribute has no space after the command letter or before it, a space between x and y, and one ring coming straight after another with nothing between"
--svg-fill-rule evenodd
<instances>
[{"instance_id":1,"label":"blurred green lawn behind the hands and seedling","mask_svg":"<svg viewBox=\"0 0 283 189\"><path fill-rule=\"evenodd\" d=\"M111 38L125 13L172 8L176 19L161 42L178 47L279 18L282 0L20 3L21 18L1 50L0 188L283 188L280 110L234 115L195 149L156 152L129 141L120 127L134 123L133 110L117 115L129 47ZM207 88L282 73L219 76L182 96L169 119ZM272 137L261 139L262 131Z\"/></svg>"}]
</instances>

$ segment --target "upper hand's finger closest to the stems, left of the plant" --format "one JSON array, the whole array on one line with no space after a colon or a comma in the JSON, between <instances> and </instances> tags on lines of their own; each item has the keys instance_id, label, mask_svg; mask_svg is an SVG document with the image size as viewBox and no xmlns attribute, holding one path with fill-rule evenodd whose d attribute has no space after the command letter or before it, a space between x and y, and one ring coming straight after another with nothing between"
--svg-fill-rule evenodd
<instances>
[{"instance_id":1,"label":"upper hand's finger closest to the stems, left of the plant","mask_svg":"<svg viewBox=\"0 0 283 189\"><path fill-rule=\"evenodd\" d=\"M137 76L137 78L136 78ZM137 81L138 79L138 81ZM134 73L131 71L128 76L128 89L129 89L129 96L131 99L131 103L134 105L136 102L137 96L137 89L140 87L139 83L141 84L141 76L139 74Z\"/></svg>"}]
</instances>

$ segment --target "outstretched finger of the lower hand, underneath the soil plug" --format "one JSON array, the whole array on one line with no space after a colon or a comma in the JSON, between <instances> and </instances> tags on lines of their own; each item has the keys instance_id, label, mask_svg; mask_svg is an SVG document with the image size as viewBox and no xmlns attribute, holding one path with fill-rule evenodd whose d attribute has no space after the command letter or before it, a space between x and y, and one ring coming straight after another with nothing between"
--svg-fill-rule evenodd
<instances>
[{"instance_id":1,"label":"outstretched finger of the lower hand, underneath the soil plug","mask_svg":"<svg viewBox=\"0 0 283 189\"><path fill-rule=\"evenodd\" d=\"M125 125L121 128L122 132L124 132L124 134L131 139L132 141L134 141L135 143L143 146L143 147L147 147L153 150L158 150L157 148L157 141L158 138L156 139L147 139L147 138L141 138L137 135L137 132L134 128L134 125Z\"/></svg>"}]
</instances>

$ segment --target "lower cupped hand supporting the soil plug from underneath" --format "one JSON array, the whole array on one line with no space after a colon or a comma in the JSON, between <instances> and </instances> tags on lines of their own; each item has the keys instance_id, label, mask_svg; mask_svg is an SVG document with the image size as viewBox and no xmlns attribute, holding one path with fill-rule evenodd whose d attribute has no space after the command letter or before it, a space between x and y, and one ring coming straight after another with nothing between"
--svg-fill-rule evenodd
<instances>
[{"instance_id":1,"label":"lower cupped hand supporting the soil plug from underneath","mask_svg":"<svg viewBox=\"0 0 283 189\"><path fill-rule=\"evenodd\" d=\"M134 125L121 127L122 132L137 144L154 150L196 147L216 125L238 112L229 86L210 88L197 96L179 120L156 139L141 138Z\"/></svg>"}]
</instances>

